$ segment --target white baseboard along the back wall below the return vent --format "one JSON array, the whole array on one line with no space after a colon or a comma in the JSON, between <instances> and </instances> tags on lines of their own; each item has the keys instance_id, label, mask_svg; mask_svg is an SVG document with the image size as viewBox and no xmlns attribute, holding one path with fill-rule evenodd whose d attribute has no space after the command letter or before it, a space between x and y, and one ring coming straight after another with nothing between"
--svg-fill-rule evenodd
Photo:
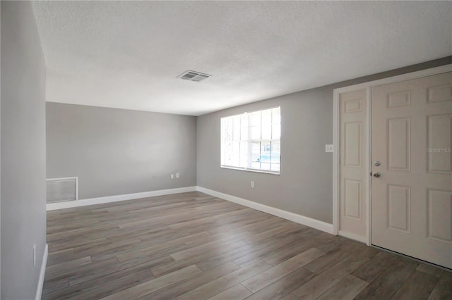
<instances>
[{"instance_id":1,"label":"white baseboard along the back wall below the return vent","mask_svg":"<svg viewBox=\"0 0 452 300\"><path fill-rule=\"evenodd\" d=\"M196 191L196 187L178 187L176 189L160 189L157 191L150 191L150 192L122 194L122 195L115 195L115 196L105 196L105 197L99 197L99 198L82 199L82 200L76 200L76 201L49 203L46 206L47 206L47 211L54 211L54 210L63 209L63 208L73 208L73 207L79 207L79 206L105 204L105 203L110 203L110 202L126 201L126 200L141 199L141 198L148 198L148 197L155 197L155 196L164 196L164 195L179 194L179 193L186 193L186 192L195 192L195 191Z\"/></svg>"}]
</instances>

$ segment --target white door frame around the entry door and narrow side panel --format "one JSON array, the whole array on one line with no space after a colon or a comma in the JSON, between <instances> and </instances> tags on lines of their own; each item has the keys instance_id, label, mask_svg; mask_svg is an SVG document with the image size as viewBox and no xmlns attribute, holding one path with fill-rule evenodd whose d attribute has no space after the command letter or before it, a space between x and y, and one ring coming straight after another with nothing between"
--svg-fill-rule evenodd
<instances>
[{"instance_id":1,"label":"white door frame around the entry door and narrow side panel","mask_svg":"<svg viewBox=\"0 0 452 300\"><path fill-rule=\"evenodd\" d=\"M427 77L431 75L437 75L441 73L451 72L452 64L441 65L435 68L429 68L425 70L420 70L412 73L406 73L402 75L396 75L392 77L387 77L379 80L373 80L369 82L359 83L357 85L350 85L347 87L340 87L338 89L333 89L333 235L340 235L343 237L347 237L349 239L355 239L358 242L363 242L367 244L367 246L371 245L371 88L378 87L379 85L388 85L395 82L401 82L405 80L417 79L420 77ZM365 197L364 201L366 203L366 237L361 237L358 235L354 235L350 232L343 232L339 230L339 187L340 187L340 105L339 105L339 95L345 92L352 92L357 89L366 89L366 123L365 123L365 132L366 132L366 147L364 149L364 153L366 154L367 159L364 161L364 168L366 169L366 173L369 174L367 179L364 181L364 190Z\"/></svg>"}]
</instances>

